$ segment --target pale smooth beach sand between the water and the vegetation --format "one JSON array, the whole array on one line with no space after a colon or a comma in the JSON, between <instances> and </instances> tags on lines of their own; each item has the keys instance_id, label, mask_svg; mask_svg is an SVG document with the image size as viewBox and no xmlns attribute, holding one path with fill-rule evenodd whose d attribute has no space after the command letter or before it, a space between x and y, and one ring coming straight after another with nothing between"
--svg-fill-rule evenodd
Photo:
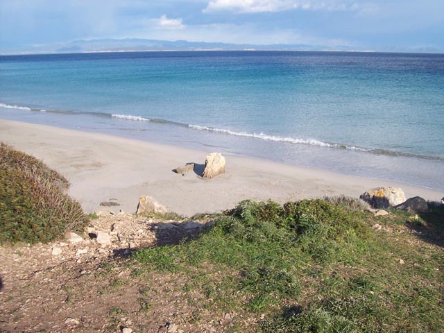
<instances>
[{"instance_id":1,"label":"pale smooth beach sand between the water and the vegetation","mask_svg":"<svg viewBox=\"0 0 444 333\"><path fill-rule=\"evenodd\" d=\"M322 196L359 197L377 186L402 187L406 197L441 200L443 193L389 180L346 176L270 160L225 155L224 175L200 178L173 169L203 164L212 151L196 151L122 137L85 133L0 119L0 141L43 160L69 182L69 194L86 212L135 212L139 196L150 195L171 212L185 216L220 212L245 199L289 200ZM202 167L202 166L200 166ZM117 207L99 204L117 199Z\"/></svg>"}]
</instances>

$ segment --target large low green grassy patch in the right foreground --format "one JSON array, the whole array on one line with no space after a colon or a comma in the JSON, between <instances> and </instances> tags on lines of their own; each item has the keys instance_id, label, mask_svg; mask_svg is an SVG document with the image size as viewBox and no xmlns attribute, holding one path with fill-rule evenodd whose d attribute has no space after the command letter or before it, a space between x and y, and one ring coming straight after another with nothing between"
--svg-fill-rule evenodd
<instances>
[{"instance_id":1,"label":"large low green grassy patch in the right foreground","mask_svg":"<svg viewBox=\"0 0 444 333\"><path fill-rule=\"evenodd\" d=\"M134 276L168 276L200 315L234 311L239 332L443 332L443 207L365 208L246 200L196 239L139 250Z\"/></svg>"}]
</instances>

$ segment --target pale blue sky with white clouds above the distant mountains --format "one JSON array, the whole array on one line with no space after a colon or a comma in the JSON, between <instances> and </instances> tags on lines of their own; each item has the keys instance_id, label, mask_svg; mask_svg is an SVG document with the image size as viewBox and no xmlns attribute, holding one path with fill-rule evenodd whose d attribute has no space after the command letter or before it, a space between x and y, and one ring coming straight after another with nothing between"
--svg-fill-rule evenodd
<instances>
[{"instance_id":1,"label":"pale blue sky with white clouds above the distant mountains","mask_svg":"<svg viewBox=\"0 0 444 333\"><path fill-rule=\"evenodd\" d=\"M0 44L100 38L444 52L444 0L0 0Z\"/></svg>"}]
</instances>

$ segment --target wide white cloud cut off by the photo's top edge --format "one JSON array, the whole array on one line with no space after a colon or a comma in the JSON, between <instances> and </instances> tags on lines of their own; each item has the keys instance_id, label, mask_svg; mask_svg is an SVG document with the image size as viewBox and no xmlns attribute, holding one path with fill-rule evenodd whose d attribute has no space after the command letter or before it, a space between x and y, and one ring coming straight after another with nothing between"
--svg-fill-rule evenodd
<instances>
[{"instance_id":1,"label":"wide white cloud cut off by the photo's top edge","mask_svg":"<svg viewBox=\"0 0 444 333\"><path fill-rule=\"evenodd\" d=\"M212 0L203 12L280 12L284 10L357 10L352 0Z\"/></svg>"}]
</instances>

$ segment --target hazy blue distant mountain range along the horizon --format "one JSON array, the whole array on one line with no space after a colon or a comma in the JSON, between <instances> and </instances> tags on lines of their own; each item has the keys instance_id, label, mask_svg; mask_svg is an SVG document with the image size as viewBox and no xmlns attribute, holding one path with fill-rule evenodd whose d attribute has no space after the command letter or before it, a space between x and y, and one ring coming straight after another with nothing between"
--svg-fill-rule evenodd
<instances>
[{"instance_id":1,"label":"hazy blue distant mountain range along the horizon","mask_svg":"<svg viewBox=\"0 0 444 333\"><path fill-rule=\"evenodd\" d=\"M83 52L118 52L118 51L239 51L239 50L276 50L276 51L367 51L350 49L349 46L323 46L306 44L227 44L218 42L188 42L186 40L145 40L141 38L74 40L67 43L46 45L0 45L0 54L28 53L83 53ZM433 48L422 49L386 49L392 52L424 52L436 53Z\"/></svg>"}]
</instances>

